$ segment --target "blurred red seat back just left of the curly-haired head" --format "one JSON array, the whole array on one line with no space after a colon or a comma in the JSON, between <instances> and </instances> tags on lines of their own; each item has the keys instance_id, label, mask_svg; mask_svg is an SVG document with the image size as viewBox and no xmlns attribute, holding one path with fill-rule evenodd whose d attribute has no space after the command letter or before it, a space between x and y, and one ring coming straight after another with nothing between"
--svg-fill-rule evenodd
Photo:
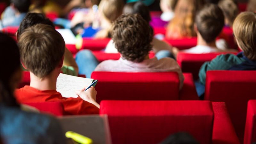
<instances>
[{"instance_id":1,"label":"blurred red seat back just left of the curly-haired head","mask_svg":"<svg viewBox=\"0 0 256 144\"><path fill-rule=\"evenodd\" d=\"M107 46L109 41L110 41L110 38L103 38L103 39L83 38L81 49L100 51Z\"/></svg>"}]
</instances>

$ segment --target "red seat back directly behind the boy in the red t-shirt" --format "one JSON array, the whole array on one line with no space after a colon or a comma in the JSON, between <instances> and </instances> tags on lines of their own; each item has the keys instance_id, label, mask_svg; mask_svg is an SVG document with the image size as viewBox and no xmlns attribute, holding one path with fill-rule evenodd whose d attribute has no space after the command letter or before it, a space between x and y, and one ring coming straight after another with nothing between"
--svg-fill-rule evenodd
<instances>
[{"instance_id":1,"label":"red seat back directly behind the boy in the red t-shirt","mask_svg":"<svg viewBox=\"0 0 256 144\"><path fill-rule=\"evenodd\" d=\"M29 106L37 108L40 112L50 113L54 116L63 116L64 107L61 102L38 102L38 103L24 103Z\"/></svg>"}]
</instances>

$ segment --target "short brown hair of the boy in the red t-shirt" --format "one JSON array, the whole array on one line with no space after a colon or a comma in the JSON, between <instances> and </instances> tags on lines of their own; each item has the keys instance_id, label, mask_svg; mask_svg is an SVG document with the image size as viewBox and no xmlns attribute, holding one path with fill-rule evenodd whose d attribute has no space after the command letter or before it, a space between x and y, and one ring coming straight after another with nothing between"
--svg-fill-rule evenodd
<instances>
[{"instance_id":1,"label":"short brown hair of the boy in the red t-shirt","mask_svg":"<svg viewBox=\"0 0 256 144\"><path fill-rule=\"evenodd\" d=\"M65 42L59 32L49 25L37 24L27 28L19 40L21 61L37 77L45 77L62 60Z\"/></svg>"}]
</instances>

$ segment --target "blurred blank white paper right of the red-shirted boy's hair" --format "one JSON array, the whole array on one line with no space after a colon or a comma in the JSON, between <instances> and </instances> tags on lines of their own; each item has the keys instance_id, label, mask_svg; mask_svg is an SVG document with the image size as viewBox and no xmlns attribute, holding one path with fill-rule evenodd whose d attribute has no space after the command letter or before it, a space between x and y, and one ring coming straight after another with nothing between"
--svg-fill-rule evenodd
<instances>
[{"instance_id":1,"label":"blurred blank white paper right of the red-shirted boy's hair","mask_svg":"<svg viewBox=\"0 0 256 144\"><path fill-rule=\"evenodd\" d=\"M76 44L76 37L70 29L56 29L63 37L66 44Z\"/></svg>"}]
</instances>

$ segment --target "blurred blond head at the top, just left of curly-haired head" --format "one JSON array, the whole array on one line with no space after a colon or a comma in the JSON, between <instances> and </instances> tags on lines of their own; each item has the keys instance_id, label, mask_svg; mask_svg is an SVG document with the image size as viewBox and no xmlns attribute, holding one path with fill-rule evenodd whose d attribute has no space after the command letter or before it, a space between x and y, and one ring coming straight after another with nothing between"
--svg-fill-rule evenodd
<instances>
[{"instance_id":1,"label":"blurred blond head at the top, just left of curly-haired head","mask_svg":"<svg viewBox=\"0 0 256 144\"><path fill-rule=\"evenodd\" d=\"M116 20L122 12L124 7L123 0L101 0L99 4L99 11L110 22Z\"/></svg>"}]
</instances>

